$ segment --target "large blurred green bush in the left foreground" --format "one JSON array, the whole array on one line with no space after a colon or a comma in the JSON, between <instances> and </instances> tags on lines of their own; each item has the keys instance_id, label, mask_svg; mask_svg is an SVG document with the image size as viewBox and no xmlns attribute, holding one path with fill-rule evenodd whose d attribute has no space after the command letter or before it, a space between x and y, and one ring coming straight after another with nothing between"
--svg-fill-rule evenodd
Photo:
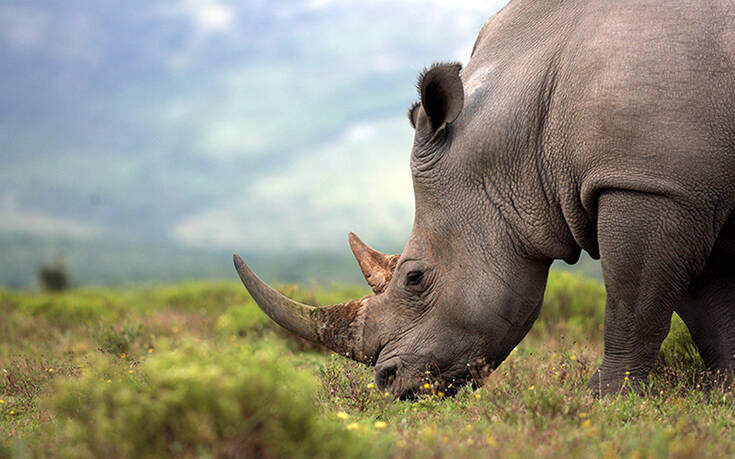
<instances>
[{"instance_id":1,"label":"large blurred green bush in the left foreground","mask_svg":"<svg viewBox=\"0 0 735 459\"><path fill-rule=\"evenodd\" d=\"M318 416L314 378L284 362L276 340L213 352L188 344L134 370L111 358L59 378L48 399L53 455L93 457L374 457L380 452ZM132 373L132 374L129 374ZM41 443L43 444L43 442ZM51 451L40 451L46 455Z\"/></svg>"}]
</instances>

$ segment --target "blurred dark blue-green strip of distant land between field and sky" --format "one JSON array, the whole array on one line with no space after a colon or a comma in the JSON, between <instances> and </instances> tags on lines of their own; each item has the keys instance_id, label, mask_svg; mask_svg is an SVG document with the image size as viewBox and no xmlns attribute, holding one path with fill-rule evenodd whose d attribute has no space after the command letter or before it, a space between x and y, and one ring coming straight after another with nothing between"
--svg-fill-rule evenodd
<instances>
[{"instance_id":1,"label":"blurred dark blue-green strip of distant land between field and sky","mask_svg":"<svg viewBox=\"0 0 735 459\"><path fill-rule=\"evenodd\" d=\"M389 251L397 252L400 248ZM323 286L364 283L346 242L341 253L274 252L239 253L268 282ZM67 267L72 285L120 286L237 278L232 252L187 248L161 241L6 235L0 237L0 259L0 285L14 288L37 288L38 268L53 261L61 261ZM601 279L599 263L584 256L574 266L557 262L555 267Z\"/></svg>"}]
</instances>

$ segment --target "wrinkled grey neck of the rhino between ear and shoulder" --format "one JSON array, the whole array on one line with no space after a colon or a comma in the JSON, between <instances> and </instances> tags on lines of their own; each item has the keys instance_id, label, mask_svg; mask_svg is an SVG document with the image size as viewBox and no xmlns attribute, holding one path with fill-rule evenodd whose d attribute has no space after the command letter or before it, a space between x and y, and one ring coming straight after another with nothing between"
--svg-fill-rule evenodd
<instances>
[{"instance_id":1,"label":"wrinkled grey neck of the rhino between ear and shoulder","mask_svg":"<svg viewBox=\"0 0 735 459\"><path fill-rule=\"evenodd\" d=\"M487 199L529 256L578 260L597 253L595 220L580 202L582 171L570 151L570 31L586 8L579 0L513 1L490 18L462 71L465 104L491 126L485 149ZM552 167L553 165L553 167ZM493 183L489 183L493 182Z\"/></svg>"}]
</instances>

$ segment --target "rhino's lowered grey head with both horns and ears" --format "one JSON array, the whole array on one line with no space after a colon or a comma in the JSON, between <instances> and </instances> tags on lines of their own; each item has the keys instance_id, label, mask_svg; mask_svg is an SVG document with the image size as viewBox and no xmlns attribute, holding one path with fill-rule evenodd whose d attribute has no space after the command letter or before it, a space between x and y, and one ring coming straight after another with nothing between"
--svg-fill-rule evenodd
<instances>
[{"instance_id":1,"label":"rhino's lowered grey head with both horns and ears","mask_svg":"<svg viewBox=\"0 0 735 459\"><path fill-rule=\"evenodd\" d=\"M460 71L458 64L435 65L419 78L420 101L409 110L416 211L403 252L380 253L350 233L374 295L326 307L300 304L235 255L242 282L268 316L374 365L378 387L399 397L427 377L457 387L474 379L477 362L499 365L538 316L550 264L522 249L522 235L488 199L491 132L477 104L465 104Z\"/></svg>"}]
</instances>

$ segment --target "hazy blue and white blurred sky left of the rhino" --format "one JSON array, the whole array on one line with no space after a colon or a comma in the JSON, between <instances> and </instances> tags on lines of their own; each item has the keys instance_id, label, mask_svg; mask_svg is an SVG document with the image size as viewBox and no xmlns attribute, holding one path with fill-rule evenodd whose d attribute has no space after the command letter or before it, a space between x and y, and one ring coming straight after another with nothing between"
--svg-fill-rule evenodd
<instances>
[{"instance_id":1,"label":"hazy blue and white blurred sky left of the rhino","mask_svg":"<svg viewBox=\"0 0 735 459\"><path fill-rule=\"evenodd\" d=\"M0 233L400 247L416 75L504 3L0 6Z\"/></svg>"}]
</instances>

